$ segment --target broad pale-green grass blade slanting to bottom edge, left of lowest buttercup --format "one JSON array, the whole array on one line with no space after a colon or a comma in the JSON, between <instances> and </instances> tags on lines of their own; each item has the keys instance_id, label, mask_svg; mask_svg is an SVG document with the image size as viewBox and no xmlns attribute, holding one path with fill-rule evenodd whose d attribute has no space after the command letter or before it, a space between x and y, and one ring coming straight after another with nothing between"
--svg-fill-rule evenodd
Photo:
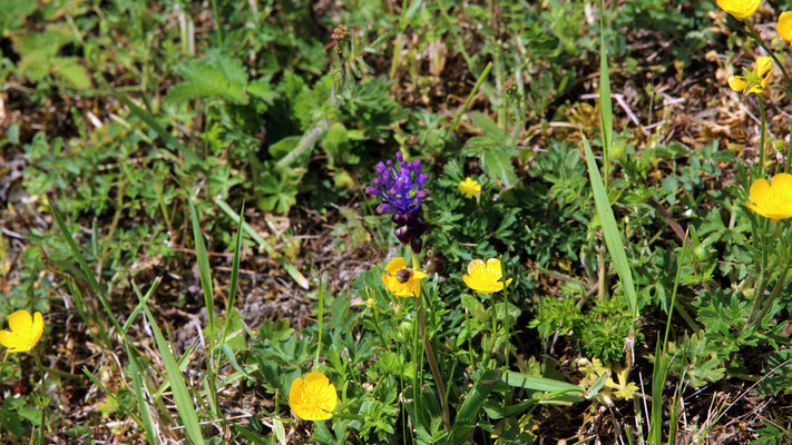
<instances>
[{"instance_id":1,"label":"broad pale-green grass blade slanting to bottom edge, left of lowest buttercup","mask_svg":"<svg viewBox=\"0 0 792 445\"><path fill-rule=\"evenodd\" d=\"M136 291L138 299L143 303L143 296L139 291ZM151 332L154 333L154 339L157 343L157 349L165 364L165 372L170 384L170 390L174 395L174 400L176 402L176 409L178 411L182 422L184 422L184 431L193 445L204 445L204 436L201 433L201 425L198 424L198 416L196 414L195 405L193 405L193 398L187 390L187 385L184 383L184 374L178 368L176 363L176 357L174 357L170 352L170 345L163 337L163 333L157 326L157 322L154 319L151 312L148 310L148 306L144 304L143 310L146 313L146 318L151 326Z\"/></svg>"}]
</instances>

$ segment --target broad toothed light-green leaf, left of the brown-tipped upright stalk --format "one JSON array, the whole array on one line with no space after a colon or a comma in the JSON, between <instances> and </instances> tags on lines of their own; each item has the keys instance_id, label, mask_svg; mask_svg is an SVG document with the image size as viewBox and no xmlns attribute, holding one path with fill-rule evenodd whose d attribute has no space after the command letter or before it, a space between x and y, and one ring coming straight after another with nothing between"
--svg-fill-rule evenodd
<instances>
[{"instance_id":1,"label":"broad toothed light-green leaf, left of the brown-tipped upright stalk","mask_svg":"<svg viewBox=\"0 0 792 445\"><path fill-rule=\"evenodd\" d=\"M176 71L185 81L168 91L166 101L217 96L236 103L247 103L247 70L238 59L219 50L208 50L203 58L182 63Z\"/></svg>"}]
</instances>

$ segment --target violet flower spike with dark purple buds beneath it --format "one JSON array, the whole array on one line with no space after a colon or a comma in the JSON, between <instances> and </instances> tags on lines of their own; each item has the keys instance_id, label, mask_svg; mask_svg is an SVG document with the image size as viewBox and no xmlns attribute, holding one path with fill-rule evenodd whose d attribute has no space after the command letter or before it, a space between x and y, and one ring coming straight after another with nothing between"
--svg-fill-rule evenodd
<instances>
[{"instance_id":1,"label":"violet flower spike with dark purple buds beneath it","mask_svg":"<svg viewBox=\"0 0 792 445\"><path fill-rule=\"evenodd\" d=\"M429 197L429 190L423 186L429 176L421 174L421 161L405 162L401 152L397 152L398 165L388 160L377 165L373 187L365 189L368 195L379 196L382 204L377 206L377 212L392 212L397 229L393 235L403 245L410 245L412 251L419 253L423 247L421 236L429 225L419 215L421 202Z\"/></svg>"}]
</instances>

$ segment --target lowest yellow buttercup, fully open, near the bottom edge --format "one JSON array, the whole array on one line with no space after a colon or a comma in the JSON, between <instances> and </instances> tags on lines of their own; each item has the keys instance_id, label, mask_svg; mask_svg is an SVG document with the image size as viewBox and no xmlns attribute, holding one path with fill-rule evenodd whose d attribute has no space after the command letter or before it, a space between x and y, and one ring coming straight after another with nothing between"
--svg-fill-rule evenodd
<instances>
[{"instance_id":1,"label":"lowest yellow buttercup, fully open, near the bottom edge","mask_svg":"<svg viewBox=\"0 0 792 445\"><path fill-rule=\"evenodd\" d=\"M326 421L333 417L338 402L335 385L322 373L309 373L304 380L297 377L289 389L289 406L303 421Z\"/></svg>"}]
</instances>

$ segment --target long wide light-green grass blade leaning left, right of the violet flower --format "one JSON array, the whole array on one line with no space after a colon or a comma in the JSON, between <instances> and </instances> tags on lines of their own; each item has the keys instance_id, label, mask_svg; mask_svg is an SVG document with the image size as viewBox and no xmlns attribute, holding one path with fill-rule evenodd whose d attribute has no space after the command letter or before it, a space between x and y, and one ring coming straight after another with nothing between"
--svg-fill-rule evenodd
<instances>
[{"instance_id":1,"label":"long wide light-green grass blade leaning left, right of the violet flower","mask_svg":"<svg viewBox=\"0 0 792 445\"><path fill-rule=\"evenodd\" d=\"M588 145L586 135L583 135L581 132L581 136L583 148L586 151L586 164L588 165L588 177L591 180L591 191L594 192L594 204L597 207L597 216L599 217L599 224L603 227L605 244L608 247L608 253L613 259L616 273L622 280L622 290L627 299L629 312L633 315L633 318L637 318L638 295L635 291L633 270L629 268L629 263L627 263L627 254L624 250L622 234L618 231L616 218L614 217L614 210L610 208L610 200L608 199L608 194L605 191L603 178L599 176L597 162L594 160L591 147Z\"/></svg>"}]
</instances>

